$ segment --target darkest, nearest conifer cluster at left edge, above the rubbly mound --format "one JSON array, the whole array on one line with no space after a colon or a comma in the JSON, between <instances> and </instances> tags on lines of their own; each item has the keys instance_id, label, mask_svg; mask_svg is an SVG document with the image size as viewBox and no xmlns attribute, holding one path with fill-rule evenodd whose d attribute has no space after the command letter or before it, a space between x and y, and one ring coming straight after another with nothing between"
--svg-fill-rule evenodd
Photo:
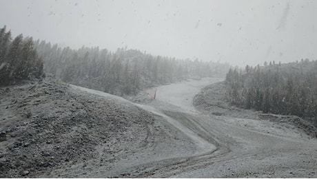
<instances>
[{"instance_id":1,"label":"darkest, nearest conifer cluster at left edge, above the rubbly mound","mask_svg":"<svg viewBox=\"0 0 317 179\"><path fill-rule=\"evenodd\" d=\"M43 61L34 49L32 38L22 34L12 41L6 26L0 29L0 85L43 75Z\"/></svg>"}]
</instances>

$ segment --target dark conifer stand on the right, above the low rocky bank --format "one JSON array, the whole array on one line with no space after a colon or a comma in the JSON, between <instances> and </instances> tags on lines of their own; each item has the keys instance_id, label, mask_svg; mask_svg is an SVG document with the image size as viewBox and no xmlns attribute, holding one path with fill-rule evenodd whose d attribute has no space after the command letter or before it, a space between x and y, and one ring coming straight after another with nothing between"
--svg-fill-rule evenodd
<instances>
[{"instance_id":1,"label":"dark conifer stand on the right, above the low rocky bank","mask_svg":"<svg viewBox=\"0 0 317 179\"><path fill-rule=\"evenodd\" d=\"M317 61L230 69L226 84L238 107L317 119Z\"/></svg>"}]
</instances>

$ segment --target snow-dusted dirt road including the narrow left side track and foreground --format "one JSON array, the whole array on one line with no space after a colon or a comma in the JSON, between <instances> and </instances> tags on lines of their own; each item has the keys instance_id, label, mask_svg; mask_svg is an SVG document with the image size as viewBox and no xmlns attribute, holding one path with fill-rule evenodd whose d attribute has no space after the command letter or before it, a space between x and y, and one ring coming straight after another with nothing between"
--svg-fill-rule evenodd
<instances>
[{"instance_id":1,"label":"snow-dusted dirt road including the narrow left side track and foreground","mask_svg":"<svg viewBox=\"0 0 317 179\"><path fill-rule=\"evenodd\" d=\"M111 177L121 173L124 177L122 173L128 173L131 178L316 178L316 139L296 135L293 129L280 130L280 126L267 121L207 115L194 108L194 95L202 87L221 80L203 78L157 87L156 100L134 105L158 116L160 123L167 122L176 128L175 138L182 136L186 140L172 140L174 148L161 140L155 147L143 147L136 154L126 155L124 162L116 160L112 169L105 169L104 173L102 169L92 171L90 176ZM115 98L123 105L131 103L91 89L72 87ZM150 96L154 90L148 90ZM143 158L134 159L135 156Z\"/></svg>"}]
</instances>

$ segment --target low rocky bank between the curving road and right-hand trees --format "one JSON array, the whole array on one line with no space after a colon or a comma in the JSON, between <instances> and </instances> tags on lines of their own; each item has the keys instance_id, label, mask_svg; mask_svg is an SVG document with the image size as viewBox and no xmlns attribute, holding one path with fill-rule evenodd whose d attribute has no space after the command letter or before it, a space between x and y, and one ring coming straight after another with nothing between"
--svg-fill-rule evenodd
<instances>
[{"instance_id":1,"label":"low rocky bank between the curving road and right-hand trees","mask_svg":"<svg viewBox=\"0 0 317 179\"><path fill-rule=\"evenodd\" d=\"M276 114L262 114L252 109L241 109L230 105L225 99L225 81L213 83L204 87L194 97L196 109L215 116L228 116L233 118L249 118L269 120L275 123L286 123L297 127L311 137L317 137L317 128L312 123L298 116L283 116Z\"/></svg>"}]
</instances>

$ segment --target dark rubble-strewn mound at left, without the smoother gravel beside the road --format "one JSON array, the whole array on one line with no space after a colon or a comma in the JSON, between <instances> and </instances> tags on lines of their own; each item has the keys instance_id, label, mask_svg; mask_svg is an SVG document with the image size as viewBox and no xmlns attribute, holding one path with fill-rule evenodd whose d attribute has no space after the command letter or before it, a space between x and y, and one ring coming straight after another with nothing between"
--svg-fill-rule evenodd
<instances>
[{"instance_id":1,"label":"dark rubble-strewn mound at left, without the smoother gravel beside the road","mask_svg":"<svg viewBox=\"0 0 317 179\"><path fill-rule=\"evenodd\" d=\"M52 81L0 88L0 177L36 177L145 145L154 117Z\"/></svg>"}]
</instances>

